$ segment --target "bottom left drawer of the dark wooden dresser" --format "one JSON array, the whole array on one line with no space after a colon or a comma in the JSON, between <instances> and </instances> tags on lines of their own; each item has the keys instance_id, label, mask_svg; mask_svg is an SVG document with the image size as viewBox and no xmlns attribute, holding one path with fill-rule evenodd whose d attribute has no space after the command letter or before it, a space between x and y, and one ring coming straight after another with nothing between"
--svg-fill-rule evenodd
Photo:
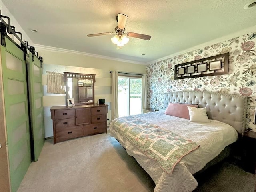
<instances>
[{"instance_id":1,"label":"bottom left drawer of the dark wooden dresser","mask_svg":"<svg viewBox=\"0 0 256 192\"><path fill-rule=\"evenodd\" d=\"M76 137L84 136L82 126L79 127L64 127L56 128L56 142L65 141Z\"/></svg>"}]
</instances>

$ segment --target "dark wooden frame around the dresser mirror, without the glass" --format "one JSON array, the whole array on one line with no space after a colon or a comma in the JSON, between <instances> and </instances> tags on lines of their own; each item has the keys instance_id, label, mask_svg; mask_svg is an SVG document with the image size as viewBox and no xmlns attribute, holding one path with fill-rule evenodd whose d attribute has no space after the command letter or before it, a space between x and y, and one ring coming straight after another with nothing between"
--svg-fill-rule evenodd
<instances>
[{"instance_id":1,"label":"dark wooden frame around the dresser mirror, without the glass","mask_svg":"<svg viewBox=\"0 0 256 192\"><path fill-rule=\"evenodd\" d=\"M92 80L92 94L93 99L92 103L80 103L76 102L75 105L90 105L94 104L94 83L95 83L95 74L84 74L84 73L72 73L72 72L63 72L64 81L66 82L66 101L68 99L68 78L82 79L82 80Z\"/></svg>"}]
</instances>

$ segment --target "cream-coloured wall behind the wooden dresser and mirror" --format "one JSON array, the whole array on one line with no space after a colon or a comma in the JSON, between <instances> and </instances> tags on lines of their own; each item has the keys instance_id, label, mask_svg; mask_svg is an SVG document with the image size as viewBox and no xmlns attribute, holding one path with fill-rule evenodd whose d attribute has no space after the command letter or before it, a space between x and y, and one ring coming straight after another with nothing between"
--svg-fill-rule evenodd
<instances>
[{"instance_id":1,"label":"cream-coloured wall behind the wooden dresser and mirror","mask_svg":"<svg viewBox=\"0 0 256 192\"><path fill-rule=\"evenodd\" d=\"M45 137L53 136L50 108L66 105L66 95L47 93L47 73L75 72L96 74L95 99L104 98L108 107L108 118L111 118L111 74L109 71L122 71L146 74L146 65L122 62L117 60L90 57L75 52L62 52L37 48L38 55L43 56L43 86L44 86L44 126Z\"/></svg>"}]
</instances>

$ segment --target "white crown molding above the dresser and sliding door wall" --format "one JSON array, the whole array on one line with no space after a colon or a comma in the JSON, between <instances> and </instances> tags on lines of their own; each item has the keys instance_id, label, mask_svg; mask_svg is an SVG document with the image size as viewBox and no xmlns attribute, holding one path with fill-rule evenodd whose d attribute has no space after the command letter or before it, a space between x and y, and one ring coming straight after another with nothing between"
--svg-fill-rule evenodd
<instances>
[{"instance_id":1,"label":"white crown molding above the dresser and sliding door wall","mask_svg":"<svg viewBox=\"0 0 256 192\"><path fill-rule=\"evenodd\" d=\"M128 62L128 63L146 65L146 62L137 62L137 61L132 61L132 60L125 60L125 59L119 59L119 58L114 58L114 57L107 57L107 56L103 56L103 55L97 55L97 54L74 51L74 50L69 50L69 49L45 46L45 45L40 45L40 44L34 44L34 46L35 46L36 49L41 49L41 50L50 50L50 51L53 51L53 52L78 54L78 55L85 55L85 56L96 57L96 58L101 58L101 59L116 60L116 61L121 61L121 62Z\"/></svg>"}]
</instances>

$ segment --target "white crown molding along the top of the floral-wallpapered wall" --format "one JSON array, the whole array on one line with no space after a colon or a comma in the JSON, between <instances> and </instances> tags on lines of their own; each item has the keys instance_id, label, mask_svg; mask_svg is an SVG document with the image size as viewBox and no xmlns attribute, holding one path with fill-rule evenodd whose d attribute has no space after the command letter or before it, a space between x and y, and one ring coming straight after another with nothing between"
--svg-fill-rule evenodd
<instances>
[{"instance_id":1,"label":"white crown molding along the top of the floral-wallpapered wall","mask_svg":"<svg viewBox=\"0 0 256 192\"><path fill-rule=\"evenodd\" d=\"M223 42L223 41L229 40L229 39L231 39L231 38L234 38L234 37L237 37L237 36L241 36L241 35L244 35L244 34L246 34L246 33L251 33L251 32L256 32L256 25L255 25L255 26L252 26L252 27L249 27L249 28L246 28L246 29L243 29L243 30L240 30L240 31L238 31L238 32L234 32L234 33L232 33L232 34L228 34L228 35L222 36L222 37L220 37L220 38L217 38L217 39L214 39L214 40L205 42L205 43L202 43L202 44L199 44L199 45L190 47L190 48L185 49L185 50L182 50L182 51L180 51L180 52L176 52L176 53L174 53L174 54L170 54L170 55L165 56L165 57L162 57L162 58L160 58L160 59L147 62L146 64L147 64L147 65L153 64L153 63L158 62L158 61L162 61L162 60L165 60L165 59L174 57L174 56L178 56L178 55L181 55L181 54L185 54L185 53L187 53L187 52L194 51L194 50L203 48L203 47L205 47L205 46L213 45L213 44L216 44L216 43L219 43L219 42Z\"/></svg>"}]
</instances>

